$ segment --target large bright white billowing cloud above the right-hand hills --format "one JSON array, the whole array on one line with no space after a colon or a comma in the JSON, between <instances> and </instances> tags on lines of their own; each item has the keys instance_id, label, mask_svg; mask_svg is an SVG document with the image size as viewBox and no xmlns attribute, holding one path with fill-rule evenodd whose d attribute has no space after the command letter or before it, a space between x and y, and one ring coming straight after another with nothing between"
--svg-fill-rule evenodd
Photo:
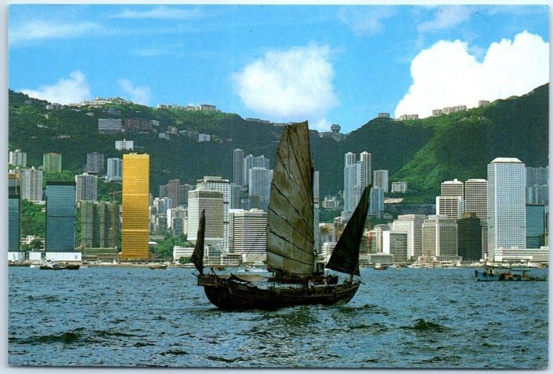
<instances>
[{"instance_id":1,"label":"large bright white billowing cloud above the right-hand hills","mask_svg":"<svg viewBox=\"0 0 553 374\"><path fill-rule=\"evenodd\" d=\"M478 100L523 95L549 81L549 43L527 31L492 43L482 62L466 43L438 41L411 62L413 84L395 108L395 117L445 106L477 106Z\"/></svg>"}]
</instances>

